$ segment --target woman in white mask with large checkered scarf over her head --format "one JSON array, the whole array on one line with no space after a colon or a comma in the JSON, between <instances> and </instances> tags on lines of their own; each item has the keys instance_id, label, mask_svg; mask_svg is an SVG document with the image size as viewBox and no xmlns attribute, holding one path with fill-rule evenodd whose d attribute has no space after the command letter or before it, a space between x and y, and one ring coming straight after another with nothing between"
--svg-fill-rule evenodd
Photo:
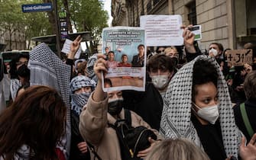
<instances>
[{"instance_id":1,"label":"woman in white mask with large checkered scarf over her head","mask_svg":"<svg viewBox=\"0 0 256 160\"><path fill-rule=\"evenodd\" d=\"M191 139L212 160L238 157L241 133L215 59L198 56L183 66L172 78L164 102L160 133L166 138Z\"/></svg>"}]
</instances>

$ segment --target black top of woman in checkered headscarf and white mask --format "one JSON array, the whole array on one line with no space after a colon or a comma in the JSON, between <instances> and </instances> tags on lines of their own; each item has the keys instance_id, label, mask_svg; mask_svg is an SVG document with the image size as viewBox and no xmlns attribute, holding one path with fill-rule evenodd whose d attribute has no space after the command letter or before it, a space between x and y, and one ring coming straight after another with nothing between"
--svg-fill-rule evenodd
<instances>
[{"instance_id":1,"label":"black top of woman in checkered headscarf and white mask","mask_svg":"<svg viewBox=\"0 0 256 160\"><path fill-rule=\"evenodd\" d=\"M222 130L219 120L215 124L203 125L197 120L194 114L191 121L196 128L196 132L203 145L203 149L211 160L225 160L226 154L222 142Z\"/></svg>"}]
</instances>

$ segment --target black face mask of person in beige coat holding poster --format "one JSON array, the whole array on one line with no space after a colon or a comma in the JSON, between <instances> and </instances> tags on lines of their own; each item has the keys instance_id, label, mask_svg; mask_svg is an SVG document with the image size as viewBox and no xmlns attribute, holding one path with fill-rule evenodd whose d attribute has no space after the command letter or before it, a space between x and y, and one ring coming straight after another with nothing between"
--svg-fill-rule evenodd
<instances>
[{"instance_id":1,"label":"black face mask of person in beige coat holding poster","mask_svg":"<svg viewBox=\"0 0 256 160\"><path fill-rule=\"evenodd\" d=\"M120 114L122 110L122 103L124 99L123 98L115 98L112 100L109 100L109 105L108 105L108 112L112 116Z\"/></svg>"}]
</instances>

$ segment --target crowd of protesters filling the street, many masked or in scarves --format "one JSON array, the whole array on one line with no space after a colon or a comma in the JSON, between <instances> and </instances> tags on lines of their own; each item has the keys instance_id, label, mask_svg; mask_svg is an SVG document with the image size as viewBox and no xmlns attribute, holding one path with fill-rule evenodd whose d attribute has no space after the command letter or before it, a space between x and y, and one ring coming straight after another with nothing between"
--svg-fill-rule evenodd
<instances>
[{"instance_id":1,"label":"crowd of protesters filling the street, many masked or in scarves","mask_svg":"<svg viewBox=\"0 0 256 160\"><path fill-rule=\"evenodd\" d=\"M256 62L228 66L221 43L201 53L190 27L183 28L184 53L158 46L146 62L144 45L131 64L126 54L118 63L109 47L74 59L81 37L65 62L45 43L13 59L0 159L126 159L117 130L128 115L132 128L151 133L141 150L128 150L131 159L256 159ZM103 91L109 67L144 65L145 91Z\"/></svg>"}]
</instances>

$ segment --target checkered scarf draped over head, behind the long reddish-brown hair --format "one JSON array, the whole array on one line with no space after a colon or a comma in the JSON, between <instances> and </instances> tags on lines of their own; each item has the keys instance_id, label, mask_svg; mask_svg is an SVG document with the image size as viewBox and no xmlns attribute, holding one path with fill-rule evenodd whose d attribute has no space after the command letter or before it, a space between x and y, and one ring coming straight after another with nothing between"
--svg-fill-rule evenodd
<instances>
[{"instance_id":1,"label":"checkered scarf draped over head, behind the long reddish-brown hair","mask_svg":"<svg viewBox=\"0 0 256 160\"><path fill-rule=\"evenodd\" d=\"M47 85L55 88L57 91L60 91L61 97L66 104L66 137L61 139L61 144L66 151L63 148L60 149L68 157L71 138L69 87L71 66L61 61L47 44L41 43L31 50L28 68L31 69L31 85Z\"/></svg>"}]
</instances>

